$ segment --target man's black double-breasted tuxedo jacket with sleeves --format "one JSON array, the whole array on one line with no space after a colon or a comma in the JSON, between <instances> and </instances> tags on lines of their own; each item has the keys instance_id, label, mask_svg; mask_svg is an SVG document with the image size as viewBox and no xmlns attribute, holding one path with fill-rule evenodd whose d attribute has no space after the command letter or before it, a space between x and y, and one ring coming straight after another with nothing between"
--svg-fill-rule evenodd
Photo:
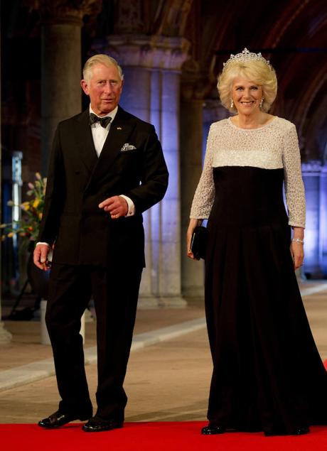
<instances>
[{"instance_id":1,"label":"man's black double-breasted tuxedo jacket with sleeves","mask_svg":"<svg viewBox=\"0 0 327 451\"><path fill-rule=\"evenodd\" d=\"M135 148L122 151L124 144ZM55 132L38 241L55 243L56 263L145 266L141 213L164 197L167 185L154 126L119 107L98 158L87 109ZM136 214L111 219L98 205L122 194Z\"/></svg>"}]
</instances>

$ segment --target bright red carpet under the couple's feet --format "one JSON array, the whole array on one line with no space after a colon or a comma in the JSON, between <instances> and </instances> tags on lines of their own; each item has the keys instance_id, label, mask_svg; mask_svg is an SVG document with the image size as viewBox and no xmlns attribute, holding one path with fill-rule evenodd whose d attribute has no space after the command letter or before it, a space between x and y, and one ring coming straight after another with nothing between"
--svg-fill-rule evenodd
<instances>
[{"instance_id":1,"label":"bright red carpet under the couple's feet","mask_svg":"<svg viewBox=\"0 0 327 451\"><path fill-rule=\"evenodd\" d=\"M262 433L203 436L203 421L126 423L105 433L84 433L79 423L60 430L33 424L0 425L2 450L11 451L326 451L327 427L313 427L299 437L264 437Z\"/></svg>"}]
</instances>

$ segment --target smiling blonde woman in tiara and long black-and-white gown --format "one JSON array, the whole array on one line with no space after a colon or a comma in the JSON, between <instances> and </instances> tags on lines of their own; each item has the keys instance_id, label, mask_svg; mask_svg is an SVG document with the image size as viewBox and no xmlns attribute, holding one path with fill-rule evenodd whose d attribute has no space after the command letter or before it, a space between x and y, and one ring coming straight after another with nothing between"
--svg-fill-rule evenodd
<instances>
[{"instance_id":1,"label":"smiling blonde woman in tiara and long black-and-white gown","mask_svg":"<svg viewBox=\"0 0 327 451\"><path fill-rule=\"evenodd\" d=\"M303 264L305 227L296 129L267 113L277 79L260 53L231 55L218 91L237 114L210 127L187 233L193 259L193 229L208 219L213 376L202 433L308 433L309 425L327 423L327 373L294 273Z\"/></svg>"}]
</instances>

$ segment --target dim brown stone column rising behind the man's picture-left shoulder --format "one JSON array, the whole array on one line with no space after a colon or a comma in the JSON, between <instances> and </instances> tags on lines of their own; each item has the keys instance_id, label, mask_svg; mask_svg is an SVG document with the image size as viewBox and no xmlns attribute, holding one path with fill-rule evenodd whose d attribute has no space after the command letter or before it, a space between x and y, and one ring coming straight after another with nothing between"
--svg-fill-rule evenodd
<instances>
[{"instance_id":1,"label":"dim brown stone column rising behind the man's picture-left shoulder","mask_svg":"<svg viewBox=\"0 0 327 451\"><path fill-rule=\"evenodd\" d=\"M29 0L41 13L41 170L46 174L59 121L81 110L82 18L100 11L102 1Z\"/></svg>"}]
</instances>

